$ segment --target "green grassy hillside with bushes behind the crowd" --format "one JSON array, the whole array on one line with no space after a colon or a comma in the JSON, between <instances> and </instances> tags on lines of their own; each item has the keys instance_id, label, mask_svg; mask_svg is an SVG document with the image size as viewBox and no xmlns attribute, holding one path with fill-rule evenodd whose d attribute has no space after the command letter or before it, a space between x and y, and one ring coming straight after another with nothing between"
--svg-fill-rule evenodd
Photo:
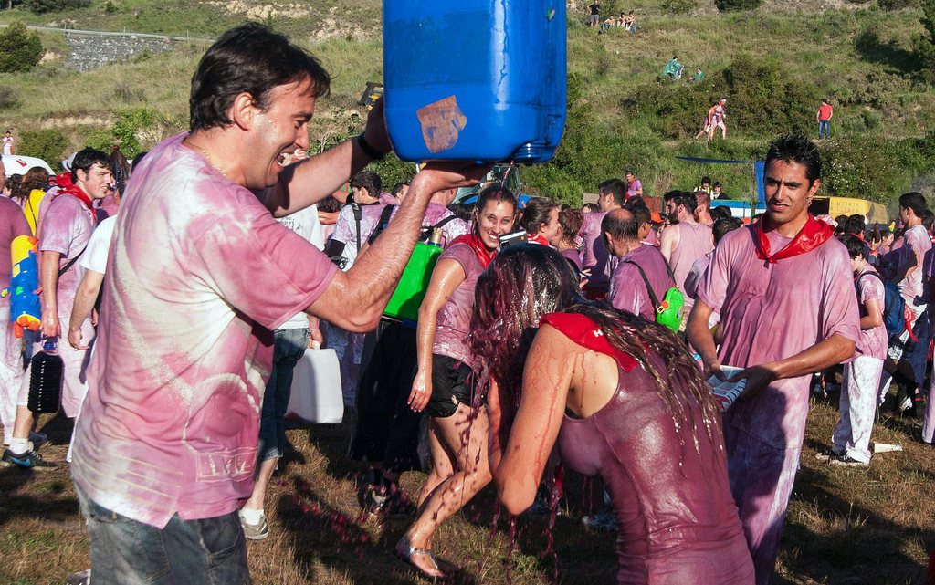
<instances>
[{"instance_id":1,"label":"green grassy hillside with bushes behind the crowd","mask_svg":"<svg viewBox=\"0 0 935 585\"><path fill-rule=\"evenodd\" d=\"M742 198L751 192L748 165L673 157L761 158L774 136L814 134L815 109L828 97L835 117L832 139L822 146L825 193L885 203L911 189L932 193L935 93L913 57L913 38L923 27L922 10L912 0L884 2L907 6L897 10L875 1L768 0L754 11L725 14L701 0L605 0L605 12L637 12L637 35L620 29L598 35L583 25L585 4L569 3L566 136L553 163L526 169L528 191L578 202L600 180L632 168L650 194L690 188L710 175ZM315 149L363 124L355 103L368 80L381 79L380 6L376 0L93 0L89 7L44 15L17 7L0 12L0 21L204 38L242 21L266 21L312 50L334 75L311 129ZM61 36L45 34L43 43L43 64L0 82L0 125L27 138L24 147L59 144L50 135L61 133L68 149L116 140L132 152L185 127L188 84L204 43L180 43L171 53L143 54L83 74L62 69L67 50ZM686 65L686 77L698 66L705 81L660 81L673 55ZM726 141L694 141L707 107L722 95L728 99ZM64 153L42 154L58 160ZM408 169L384 163L380 170L392 179Z\"/></svg>"}]
</instances>

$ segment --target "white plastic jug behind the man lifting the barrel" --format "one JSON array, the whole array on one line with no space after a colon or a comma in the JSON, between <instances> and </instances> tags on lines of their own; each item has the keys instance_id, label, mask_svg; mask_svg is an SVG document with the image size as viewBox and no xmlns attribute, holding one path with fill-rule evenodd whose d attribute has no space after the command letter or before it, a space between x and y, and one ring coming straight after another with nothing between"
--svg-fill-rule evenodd
<instances>
[{"instance_id":1,"label":"white plastic jug behind the man lifting the barrel","mask_svg":"<svg viewBox=\"0 0 935 585\"><path fill-rule=\"evenodd\" d=\"M305 350L295 364L286 419L337 424L344 418L341 371L335 350Z\"/></svg>"}]
</instances>

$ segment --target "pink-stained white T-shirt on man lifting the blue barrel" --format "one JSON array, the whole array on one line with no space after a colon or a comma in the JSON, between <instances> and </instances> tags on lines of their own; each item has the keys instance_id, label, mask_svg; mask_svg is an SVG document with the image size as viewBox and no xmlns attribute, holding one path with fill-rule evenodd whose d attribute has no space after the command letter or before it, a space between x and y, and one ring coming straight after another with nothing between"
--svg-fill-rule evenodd
<instances>
[{"instance_id":1,"label":"pink-stained white T-shirt on man lifting the blue barrel","mask_svg":"<svg viewBox=\"0 0 935 585\"><path fill-rule=\"evenodd\" d=\"M184 137L130 178L72 464L94 502L158 528L250 496L271 332L337 271Z\"/></svg>"}]
</instances>

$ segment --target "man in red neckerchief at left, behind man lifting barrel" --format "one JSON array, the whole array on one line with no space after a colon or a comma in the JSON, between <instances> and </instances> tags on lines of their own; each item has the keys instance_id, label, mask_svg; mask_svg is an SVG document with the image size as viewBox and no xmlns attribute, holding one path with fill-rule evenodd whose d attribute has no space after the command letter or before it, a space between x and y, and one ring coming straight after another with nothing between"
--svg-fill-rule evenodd
<instances>
[{"instance_id":1,"label":"man in red neckerchief at left, behind man lifting barrel","mask_svg":"<svg viewBox=\"0 0 935 585\"><path fill-rule=\"evenodd\" d=\"M100 150L81 150L75 155L72 165L72 184L60 190L58 196L44 206L46 209L38 245L39 286L42 289L40 333L43 337L58 337L63 331L67 335L71 308L85 272L77 261L88 246L91 233L97 225L93 202L108 195L112 179L107 154ZM94 338L90 318L82 323L81 330L85 340ZM34 343L33 353L41 349L41 339L38 339ZM84 394L88 391L84 376L87 351L73 348L66 337L60 339L59 354L65 363L62 409L65 416L70 418L78 416ZM53 467L54 464L44 461L36 453L35 446L29 441L33 413L26 407L26 403L31 369L32 364L27 367L22 380L17 397L13 439L3 454L3 460L22 467Z\"/></svg>"}]
</instances>

